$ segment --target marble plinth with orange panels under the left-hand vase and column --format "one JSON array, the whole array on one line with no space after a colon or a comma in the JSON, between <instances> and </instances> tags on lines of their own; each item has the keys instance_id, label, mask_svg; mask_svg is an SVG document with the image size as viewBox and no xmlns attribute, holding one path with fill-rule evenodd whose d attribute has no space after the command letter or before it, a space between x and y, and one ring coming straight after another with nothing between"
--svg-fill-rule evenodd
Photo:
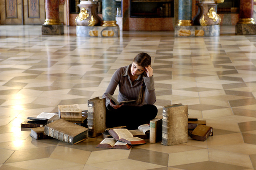
<instances>
[{"instance_id":1,"label":"marble plinth with orange panels under the left-hand vase and column","mask_svg":"<svg viewBox=\"0 0 256 170\"><path fill-rule=\"evenodd\" d=\"M119 26L76 26L78 37L119 37Z\"/></svg>"}]
</instances>

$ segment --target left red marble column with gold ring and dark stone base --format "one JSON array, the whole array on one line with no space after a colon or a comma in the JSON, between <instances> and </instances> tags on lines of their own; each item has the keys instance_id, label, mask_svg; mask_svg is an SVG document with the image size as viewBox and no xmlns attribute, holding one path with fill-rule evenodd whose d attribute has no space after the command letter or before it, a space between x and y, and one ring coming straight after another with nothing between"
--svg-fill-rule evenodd
<instances>
[{"instance_id":1,"label":"left red marble column with gold ring and dark stone base","mask_svg":"<svg viewBox=\"0 0 256 170\"><path fill-rule=\"evenodd\" d=\"M65 0L45 0L46 20L42 25L42 35L64 34L64 26L60 23L59 5Z\"/></svg>"}]
</instances>

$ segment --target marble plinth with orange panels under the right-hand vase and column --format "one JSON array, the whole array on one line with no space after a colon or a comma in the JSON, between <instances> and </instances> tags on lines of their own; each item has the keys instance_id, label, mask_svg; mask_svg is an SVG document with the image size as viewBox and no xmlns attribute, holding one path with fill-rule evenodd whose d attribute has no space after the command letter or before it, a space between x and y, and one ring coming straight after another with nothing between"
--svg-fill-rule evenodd
<instances>
[{"instance_id":1,"label":"marble plinth with orange panels under the right-hand vase and column","mask_svg":"<svg viewBox=\"0 0 256 170\"><path fill-rule=\"evenodd\" d=\"M175 37L214 37L220 36L220 25L175 26Z\"/></svg>"}]
</instances>

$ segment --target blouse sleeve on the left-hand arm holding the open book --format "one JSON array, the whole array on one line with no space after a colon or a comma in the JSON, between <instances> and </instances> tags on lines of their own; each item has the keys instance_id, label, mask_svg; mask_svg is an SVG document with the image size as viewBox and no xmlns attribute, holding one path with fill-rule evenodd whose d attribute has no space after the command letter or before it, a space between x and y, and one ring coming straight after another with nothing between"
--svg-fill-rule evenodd
<instances>
[{"instance_id":1,"label":"blouse sleeve on the left-hand arm holding the open book","mask_svg":"<svg viewBox=\"0 0 256 170\"><path fill-rule=\"evenodd\" d=\"M110 95L113 95L118 83L121 79L121 73L120 69L117 69L114 74L112 75L112 78L110 80L110 83L108 84L108 88L106 89L105 93L103 94L102 98L106 98L106 107L108 108L108 105L110 103L110 98L108 97L107 93Z\"/></svg>"}]
</instances>

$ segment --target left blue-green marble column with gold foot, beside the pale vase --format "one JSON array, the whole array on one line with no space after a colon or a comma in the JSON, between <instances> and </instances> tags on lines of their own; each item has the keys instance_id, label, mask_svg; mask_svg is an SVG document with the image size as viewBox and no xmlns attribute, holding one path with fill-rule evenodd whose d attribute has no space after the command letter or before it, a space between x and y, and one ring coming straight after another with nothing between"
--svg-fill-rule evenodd
<instances>
[{"instance_id":1,"label":"left blue-green marble column with gold foot, beside the pale vase","mask_svg":"<svg viewBox=\"0 0 256 170\"><path fill-rule=\"evenodd\" d=\"M116 24L116 0L102 0L102 26L118 26Z\"/></svg>"}]
</instances>

